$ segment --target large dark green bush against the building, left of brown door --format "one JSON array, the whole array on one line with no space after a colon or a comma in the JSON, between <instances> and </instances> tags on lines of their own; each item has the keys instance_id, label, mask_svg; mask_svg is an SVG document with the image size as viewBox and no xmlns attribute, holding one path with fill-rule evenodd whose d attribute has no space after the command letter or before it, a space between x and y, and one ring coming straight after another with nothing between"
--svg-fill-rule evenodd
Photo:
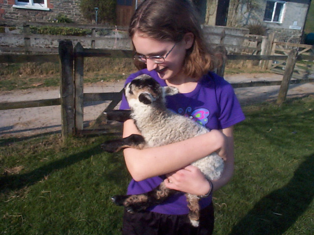
<instances>
[{"instance_id":1,"label":"large dark green bush against the building, left of brown door","mask_svg":"<svg viewBox=\"0 0 314 235\"><path fill-rule=\"evenodd\" d=\"M83 16L93 21L96 19L95 7L98 7L97 22L115 24L116 0L81 0L80 9Z\"/></svg>"}]
</instances>

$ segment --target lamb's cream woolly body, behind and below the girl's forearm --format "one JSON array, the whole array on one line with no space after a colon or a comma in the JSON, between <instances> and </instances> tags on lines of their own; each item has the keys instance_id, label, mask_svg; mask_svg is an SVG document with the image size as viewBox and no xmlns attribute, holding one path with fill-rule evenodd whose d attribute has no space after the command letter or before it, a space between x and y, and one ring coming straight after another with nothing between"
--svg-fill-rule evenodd
<instances>
[{"instance_id":1,"label":"lamb's cream woolly body, behind and below the girl's forearm","mask_svg":"<svg viewBox=\"0 0 314 235\"><path fill-rule=\"evenodd\" d=\"M199 123L166 108L153 105L143 106L133 107L130 104L131 117L136 121L136 126L145 139L145 147L179 142L209 132ZM216 153L210 154L192 165L198 167L211 180L218 179L224 167L222 158Z\"/></svg>"}]
</instances>

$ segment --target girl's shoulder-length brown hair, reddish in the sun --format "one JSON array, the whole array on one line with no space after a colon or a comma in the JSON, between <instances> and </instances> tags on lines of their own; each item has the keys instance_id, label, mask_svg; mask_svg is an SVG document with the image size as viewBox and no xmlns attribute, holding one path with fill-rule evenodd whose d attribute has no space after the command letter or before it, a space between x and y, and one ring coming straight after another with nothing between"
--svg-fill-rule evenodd
<instances>
[{"instance_id":1,"label":"girl's shoulder-length brown hair, reddish in the sun","mask_svg":"<svg viewBox=\"0 0 314 235\"><path fill-rule=\"evenodd\" d=\"M183 72L199 79L214 68L214 56L203 38L200 20L190 0L144 0L131 18L129 36L136 31L156 40L180 42L185 33L194 34L193 46L187 50ZM145 63L134 60L138 69Z\"/></svg>"}]
</instances>

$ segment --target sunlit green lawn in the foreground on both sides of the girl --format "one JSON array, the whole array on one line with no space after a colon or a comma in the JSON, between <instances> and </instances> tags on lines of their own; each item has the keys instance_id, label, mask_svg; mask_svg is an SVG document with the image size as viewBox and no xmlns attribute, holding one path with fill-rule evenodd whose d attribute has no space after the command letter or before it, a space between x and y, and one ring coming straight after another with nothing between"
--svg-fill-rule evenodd
<instances>
[{"instance_id":1,"label":"sunlit green lawn in the foreground on both sides of the girl","mask_svg":"<svg viewBox=\"0 0 314 235\"><path fill-rule=\"evenodd\" d=\"M314 234L314 97L244 107L235 175L215 192L215 235ZM118 235L109 196L130 176L106 136L0 141L0 234Z\"/></svg>"}]
</instances>

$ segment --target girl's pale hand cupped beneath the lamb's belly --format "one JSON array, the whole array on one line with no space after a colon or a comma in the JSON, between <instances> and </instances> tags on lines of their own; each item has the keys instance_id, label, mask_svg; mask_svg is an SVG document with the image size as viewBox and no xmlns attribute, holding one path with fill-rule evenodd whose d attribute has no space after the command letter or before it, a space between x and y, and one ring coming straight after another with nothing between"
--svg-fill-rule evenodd
<instances>
[{"instance_id":1,"label":"girl's pale hand cupped beneath the lamb's belly","mask_svg":"<svg viewBox=\"0 0 314 235\"><path fill-rule=\"evenodd\" d=\"M195 195L205 195L210 185L199 168L188 165L183 169L166 175L164 183L167 188L188 192Z\"/></svg>"}]
</instances>

